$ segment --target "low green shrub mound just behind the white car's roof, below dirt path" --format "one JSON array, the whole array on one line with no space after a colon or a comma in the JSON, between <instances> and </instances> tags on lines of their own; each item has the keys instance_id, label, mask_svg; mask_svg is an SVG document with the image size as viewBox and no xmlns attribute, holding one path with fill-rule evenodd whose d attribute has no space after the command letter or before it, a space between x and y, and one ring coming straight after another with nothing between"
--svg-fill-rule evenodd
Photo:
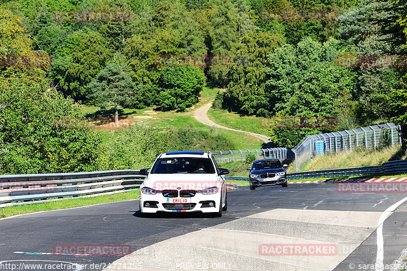
<instances>
[{"instance_id":1,"label":"low green shrub mound just behind the white car's roof, below dirt path","mask_svg":"<svg viewBox=\"0 0 407 271\"><path fill-rule=\"evenodd\" d=\"M215 130L207 131L192 124L178 130L171 130L172 149L176 150L216 150L235 149L235 146Z\"/></svg>"}]
</instances>

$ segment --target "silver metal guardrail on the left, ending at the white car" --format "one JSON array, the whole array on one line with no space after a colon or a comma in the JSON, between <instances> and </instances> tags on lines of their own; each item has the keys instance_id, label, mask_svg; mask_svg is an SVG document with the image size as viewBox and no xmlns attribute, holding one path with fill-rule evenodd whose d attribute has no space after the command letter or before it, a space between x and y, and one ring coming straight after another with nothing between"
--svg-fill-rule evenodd
<instances>
[{"instance_id":1,"label":"silver metal guardrail on the left, ending at the white car","mask_svg":"<svg viewBox=\"0 0 407 271\"><path fill-rule=\"evenodd\" d=\"M138 170L0 175L0 207L105 195L139 188ZM52 200L49 200L52 199Z\"/></svg>"}]
</instances>

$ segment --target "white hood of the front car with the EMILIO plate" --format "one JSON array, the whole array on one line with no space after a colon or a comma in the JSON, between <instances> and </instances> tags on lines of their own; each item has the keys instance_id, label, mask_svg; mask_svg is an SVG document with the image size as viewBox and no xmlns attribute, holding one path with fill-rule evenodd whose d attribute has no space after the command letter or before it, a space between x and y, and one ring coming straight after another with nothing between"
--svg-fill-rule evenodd
<instances>
[{"instance_id":1,"label":"white hood of the front car with the EMILIO plate","mask_svg":"<svg viewBox=\"0 0 407 271\"><path fill-rule=\"evenodd\" d=\"M218 174L149 174L143 186L156 190L201 190L210 187L221 187Z\"/></svg>"}]
</instances>

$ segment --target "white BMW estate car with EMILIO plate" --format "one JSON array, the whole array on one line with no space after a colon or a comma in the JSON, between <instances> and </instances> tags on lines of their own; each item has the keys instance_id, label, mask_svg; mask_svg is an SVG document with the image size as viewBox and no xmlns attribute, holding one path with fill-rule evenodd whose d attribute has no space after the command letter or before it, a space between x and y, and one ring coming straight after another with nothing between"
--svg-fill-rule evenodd
<instances>
[{"instance_id":1,"label":"white BMW estate car with EMILIO plate","mask_svg":"<svg viewBox=\"0 0 407 271\"><path fill-rule=\"evenodd\" d=\"M227 210L225 174L211 154L195 151L167 152L140 186L140 216L157 212L201 212L221 217Z\"/></svg>"}]
</instances>

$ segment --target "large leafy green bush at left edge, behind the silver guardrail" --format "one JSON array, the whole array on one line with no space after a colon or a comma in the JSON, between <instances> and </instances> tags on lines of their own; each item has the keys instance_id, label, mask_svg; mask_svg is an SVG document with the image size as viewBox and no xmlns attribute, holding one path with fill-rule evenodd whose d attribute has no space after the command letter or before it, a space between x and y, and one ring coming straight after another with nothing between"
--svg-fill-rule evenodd
<instances>
[{"instance_id":1,"label":"large leafy green bush at left edge, behind the silver guardrail","mask_svg":"<svg viewBox=\"0 0 407 271\"><path fill-rule=\"evenodd\" d=\"M100 136L78 121L83 114L47 82L12 79L0 86L0 174L95 170ZM59 129L56 119L75 120Z\"/></svg>"}]
</instances>

